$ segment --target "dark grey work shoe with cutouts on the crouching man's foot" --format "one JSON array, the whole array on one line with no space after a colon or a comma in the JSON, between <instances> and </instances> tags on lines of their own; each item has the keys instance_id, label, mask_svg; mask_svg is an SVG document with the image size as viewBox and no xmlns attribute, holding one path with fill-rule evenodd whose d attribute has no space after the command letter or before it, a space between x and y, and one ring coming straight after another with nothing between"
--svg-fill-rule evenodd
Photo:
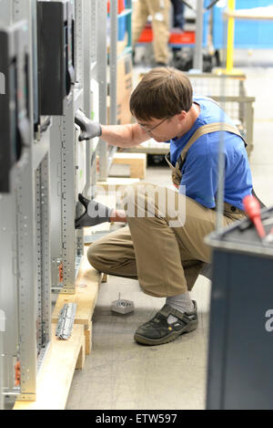
<instances>
[{"instance_id":1,"label":"dark grey work shoe with cutouts on the crouching man's foot","mask_svg":"<svg viewBox=\"0 0 273 428\"><path fill-rule=\"evenodd\" d=\"M194 310L185 313L171 308L169 305L164 305L154 318L136 329L134 336L136 342L144 345L162 345L163 343L168 343L177 339L177 337L183 333L188 333L189 331L197 329L197 302L195 300L192 302L194 304ZM177 321L168 324L167 318L169 315L177 317Z\"/></svg>"}]
</instances>

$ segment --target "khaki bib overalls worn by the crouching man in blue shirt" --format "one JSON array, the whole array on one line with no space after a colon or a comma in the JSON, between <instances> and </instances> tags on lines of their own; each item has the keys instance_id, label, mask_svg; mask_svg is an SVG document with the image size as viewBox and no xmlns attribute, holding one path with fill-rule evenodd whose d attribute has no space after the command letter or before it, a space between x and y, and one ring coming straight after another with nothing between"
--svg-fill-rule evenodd
<instances>
[{"instance_id":1,"label":"khaki bib overalls worn by the crouching man in blue shirt","mask_svg":"<svg viewBox=\"0 0 273 428\"><path fill-rule=\"evenodd\" d=\"M176 167L167 154L176 186L180 184L181 163L185 162L189 147L204 133L216 130L240 136L237 129L225 123L204 125L187 142ZM169 196L174 198L175 207L183 207L183 215L170 209L167 203L167 209L162 209L162 201L168 201ZM109 275L138 279L140 287L150 296L163 298L190 291L202 267L210 263L211 251L204 237L215 230L216 210L177 190L143 182L130 186L129 190L126 187L124 201L125 209L129 205L135 209L134 214L132 209L127 214L128 226L92 244L87 253L90 264ZM224 204L225 226L244 217L243 211Z\"/></svg>"}]
</instances>

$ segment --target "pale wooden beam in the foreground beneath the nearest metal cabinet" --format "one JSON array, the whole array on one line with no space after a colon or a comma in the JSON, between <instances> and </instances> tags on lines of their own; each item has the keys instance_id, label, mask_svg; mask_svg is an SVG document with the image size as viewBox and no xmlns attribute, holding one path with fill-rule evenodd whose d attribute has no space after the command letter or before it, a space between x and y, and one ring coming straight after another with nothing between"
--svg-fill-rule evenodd
<instances>
[{"instance_id":1,"label":"pale wooden beam in the foreground beneath the nearest metal cabinet","mask_svg":"<svg viewBox=\"0 0 273 428\"><path fill-rule=\"evenodd\" d=\"M86 357L84 326L73 326L67 340L56 338L52 325L50 349L37 376L36 401L15 402L14 410L64 410L75 369L83 367Z\"/></svg>"}]
</instances>

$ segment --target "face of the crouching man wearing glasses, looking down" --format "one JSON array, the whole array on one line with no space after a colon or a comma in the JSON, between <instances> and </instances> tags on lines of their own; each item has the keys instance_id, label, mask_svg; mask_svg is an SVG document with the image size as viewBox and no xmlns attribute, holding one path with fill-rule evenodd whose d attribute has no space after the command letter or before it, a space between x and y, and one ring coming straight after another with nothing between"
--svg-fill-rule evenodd
<instances>
[{"instance_id":1,"label":"face of the crouching man wearing glasses, looking down","mask_svg":"<svg viewBox=\"0 0 273 428\"><path fill-rule=\"evenodd\" d=\"M171 118L162 120L138 121L138 124L154 140L158 142L168 141L183 133L183 118L181 120L180 116L181 114L177 114Z\"/></svg>"}]
</instances>

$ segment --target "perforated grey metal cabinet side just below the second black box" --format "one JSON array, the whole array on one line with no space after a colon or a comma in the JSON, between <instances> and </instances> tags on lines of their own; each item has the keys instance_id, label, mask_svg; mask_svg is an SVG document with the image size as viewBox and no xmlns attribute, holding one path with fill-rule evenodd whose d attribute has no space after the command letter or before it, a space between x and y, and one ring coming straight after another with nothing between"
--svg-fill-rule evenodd
<instances>
[{"instance_id":1,"label":"perforated grey metal cabinet side just below the second black box","mask_svg":"<svg viewBox=\"0 0 273 428\"><path fill-rule=\"evenodd\" d=\"M75 110L83 103L82 89L75 89L66 100L63 117L53 118L50 130L51 175L51 258L53 287L58 282L58 266L63 264L66 292L75 282L75 200L76 200L76 128ZM69 193L69 195L68 195ZM67 268L67 270L66 270ZM65 291L65 290L62 290Z\"/></svg>"}]
</instances>

